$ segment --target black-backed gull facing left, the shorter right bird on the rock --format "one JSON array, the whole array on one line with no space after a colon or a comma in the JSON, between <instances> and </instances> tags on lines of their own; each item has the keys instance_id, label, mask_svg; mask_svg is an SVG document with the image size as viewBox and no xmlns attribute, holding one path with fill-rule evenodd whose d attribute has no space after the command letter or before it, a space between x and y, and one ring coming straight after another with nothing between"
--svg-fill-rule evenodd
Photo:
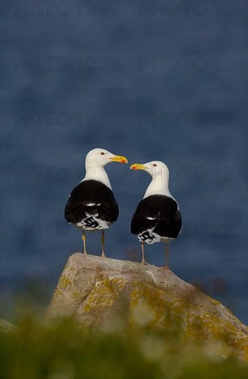
<instances>
[{"instance_id":1,"label":"black-backed gull facing left, the shorter right bird on the rock","mask_svg":"<svg viewBox=\"0 0 248 379\"><path fill-rule=\"evenodd\" d=\"M145 264L145 243L166 243L166 269L169 268L169 243L179 236L182 227L179 204L169 190L169 169L161 161L134 163L131 170L144 170L152 176L144 198L139 202L131 221L131 233L142 245Z\"/></svg>"}]
</instances>

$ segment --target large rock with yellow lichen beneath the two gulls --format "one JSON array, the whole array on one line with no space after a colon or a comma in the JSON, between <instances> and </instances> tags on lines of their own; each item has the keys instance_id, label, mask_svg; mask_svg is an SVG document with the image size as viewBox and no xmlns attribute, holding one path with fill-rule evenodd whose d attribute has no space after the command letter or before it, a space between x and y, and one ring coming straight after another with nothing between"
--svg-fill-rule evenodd
<instances>
[{"instance_id":1,"label":"large rock with yellow lichen beneath the two gulls","mask_svg":"<svg viewBox=\"0 0 248 379\"><path fill-rule=\"evenodd\" d=\"M73 254L47 310L49 320L58 316L114 331L171 331L178 325L177 332L198 342L218 338L223 354L247 359L247 327L217 300L153 265Z\"/></svg>"}]
</instances>

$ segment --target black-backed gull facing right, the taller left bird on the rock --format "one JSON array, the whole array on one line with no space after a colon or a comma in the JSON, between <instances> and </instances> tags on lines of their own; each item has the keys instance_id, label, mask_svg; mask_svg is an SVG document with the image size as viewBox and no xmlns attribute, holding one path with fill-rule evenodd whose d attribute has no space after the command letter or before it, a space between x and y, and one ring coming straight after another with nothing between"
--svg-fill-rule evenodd
<instances>
[{"instance_id":1,"label":"black-backed gull facing right, the taller left bird on the rock","mask_svg":"<svg viewBox=\"0 0 248 379\"><path fill-rule=\"evenodd\" d=\"M111 162L128 163L128 160L125 156L101 148L88 152L85 158L85 176L72 190L65 205L67 222L82 230L84 254L87 254L85 231L101 230L102 257L105 257L104 231L119 216L109 176L104 170L104 166Z\"/></svg>"}]
</instances>

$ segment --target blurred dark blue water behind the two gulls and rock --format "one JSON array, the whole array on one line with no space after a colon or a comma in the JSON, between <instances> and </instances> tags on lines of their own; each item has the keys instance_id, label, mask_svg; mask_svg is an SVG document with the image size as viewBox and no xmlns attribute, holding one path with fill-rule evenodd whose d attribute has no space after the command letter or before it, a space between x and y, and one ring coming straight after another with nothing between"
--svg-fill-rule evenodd
<instances>
[{"instance_id":1,"label":"blurred dark blue water behind the two gulls and rock","mask_svg":"<svg viewBox=\"0 0 248 379\"><path fill-rule=\"evenodd\" d=\"M67 257L82 251L78 231L66 229L63 211L83 175L84 155L104 147L130 163L160 159L172 167L170 190L186 227L171 244L171 269L203 284L246 321L246 2L233 1L228 11L220 1L220 15L216 2L203 2L202 16L195 10L185 16L183 8L174 16L174 10L153 14L150 1L143 2L148 10L139 1L79 2L79 16L78 2L65 3L70 8L65 16L54 8L50 16L44 8L38 16L19 10L15 16L14 8L2 14L2 56L8 57L1 72L3 302L25 291L14 285L16 278L51 276L52 291ZM14 60L24 57L27 70L14 68ZM51 70L45 57L52 57ZM146 65L139 64L140 57ZM153 67L153 57L157 62L164 57L168 65ZM189 57L188 70L182 57ZM207 68L201 70L203 62ZM33 117L27 125L14 121L14 113L23 112ZM44 112L54 112L51 125ZM152 112L164 112L165 125L152 123ZM190 112L188 125L182 112ZM69 122L62 125L66 116ZM129 225L149 178L127 165L109 165L107 171L120 217L106 236L106 253L140 260ZM100 254L100 236L89 236L88 246ZM148 247L146 258L163 265L164 247ZM8 314L5 303L2 309Z\"/></svg>"}]
</instances>

